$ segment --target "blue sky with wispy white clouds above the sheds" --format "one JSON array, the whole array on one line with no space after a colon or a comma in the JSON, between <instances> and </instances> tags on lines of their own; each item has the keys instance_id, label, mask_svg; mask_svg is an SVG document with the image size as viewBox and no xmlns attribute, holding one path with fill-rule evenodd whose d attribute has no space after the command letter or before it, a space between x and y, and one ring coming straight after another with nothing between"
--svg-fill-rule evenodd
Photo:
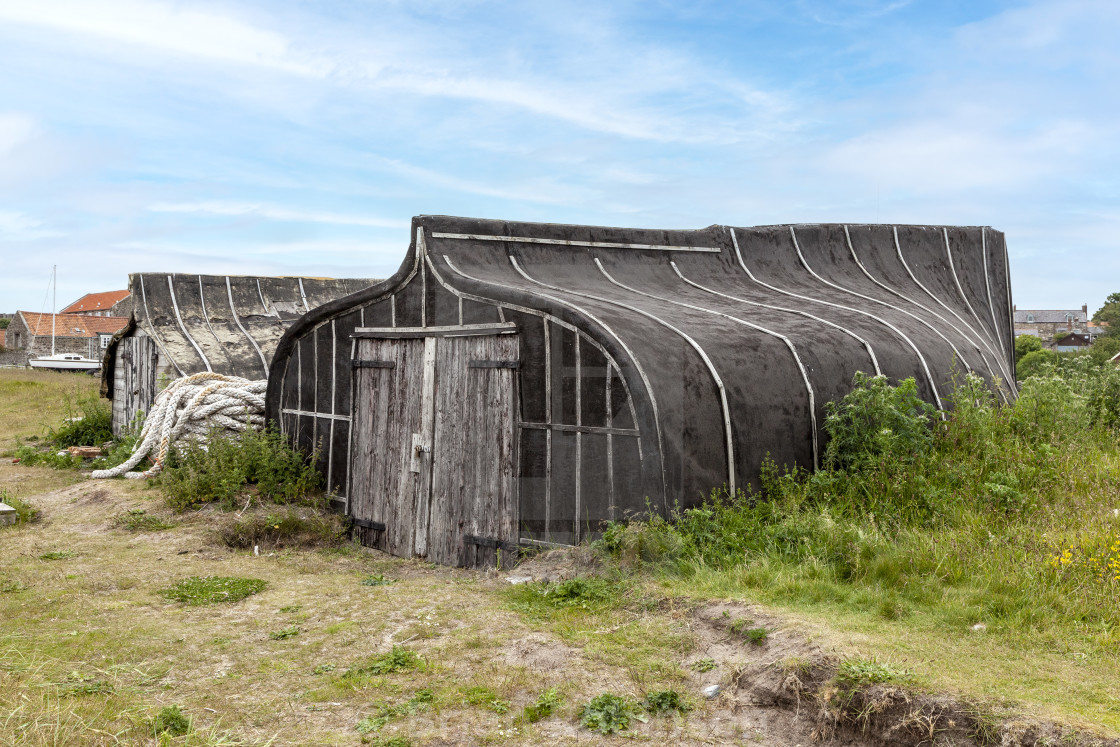
<instances>
[{"instance_id":1,"label":"blue sky with wispy white clouds above the sheds","mask_svg":"<svg viewBox=\"0 0 1120 747\"><path fill-rule=\"evenodd\" d=\"M1020 307L1092 309L1118 38L1114 0L0 0L0 310L52 264L59 304L385 277L422 213L991 225Z\"/></svg>"}]
</instances>

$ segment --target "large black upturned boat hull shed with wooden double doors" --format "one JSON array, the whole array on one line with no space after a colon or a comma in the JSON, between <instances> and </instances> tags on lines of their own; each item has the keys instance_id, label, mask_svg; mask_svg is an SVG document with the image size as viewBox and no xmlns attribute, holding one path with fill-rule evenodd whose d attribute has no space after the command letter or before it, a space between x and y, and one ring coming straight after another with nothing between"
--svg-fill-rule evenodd
<instances>
[{"instance_id":1,"label":"large black upturned boat hull shed with wooden double doors","mask_svg":"<svg viewBox=\"0 0 1120 747\"><path fill-rule=\"evenodd\" d=\"M1015 395L1004 234L421 216L390 279L277 348L268 414L362 541L485 566L819 464L857 371Z\"/></svg>"}]
</instances>

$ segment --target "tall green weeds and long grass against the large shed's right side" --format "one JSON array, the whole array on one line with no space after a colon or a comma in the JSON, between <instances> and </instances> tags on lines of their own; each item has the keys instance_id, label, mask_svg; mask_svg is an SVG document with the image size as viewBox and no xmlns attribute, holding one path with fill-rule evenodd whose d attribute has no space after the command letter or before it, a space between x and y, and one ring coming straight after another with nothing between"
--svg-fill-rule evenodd
<instances>
[{"instance_id":1,"label":"tall green weeds and long grass against the large shed's right side","mask_svg":"<svg viewBox=\"0 0 1120 747\"><path fill-rule=\"evenodd\" d=\"M1064 361L1011 403L968 374L945 400L858 374L827 408L822 469L767 461L600 547L697 590L1120 642L1120 371Z\"/></svg>"}]
</instances>

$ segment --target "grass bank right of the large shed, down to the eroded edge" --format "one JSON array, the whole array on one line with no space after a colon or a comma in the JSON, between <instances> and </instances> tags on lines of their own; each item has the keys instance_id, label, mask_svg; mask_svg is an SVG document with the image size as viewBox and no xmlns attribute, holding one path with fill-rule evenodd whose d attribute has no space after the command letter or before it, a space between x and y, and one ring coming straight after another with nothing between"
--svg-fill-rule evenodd
<instances>
[{"instance_id":1,"label":"grass bank right of the large shed, down to the eroded edge","mask_svg":"<svg viewBox=\"0 0 1120 747\"><path fill-rule=\"evenodd\" d=\"M1120 728L1120 372L1064 365L1012 407L962 377L944 422L858 380L829 409L830 468L769 465L601 547L661 594L787 610L922 687Z\"/></svg>"}]
</instances>

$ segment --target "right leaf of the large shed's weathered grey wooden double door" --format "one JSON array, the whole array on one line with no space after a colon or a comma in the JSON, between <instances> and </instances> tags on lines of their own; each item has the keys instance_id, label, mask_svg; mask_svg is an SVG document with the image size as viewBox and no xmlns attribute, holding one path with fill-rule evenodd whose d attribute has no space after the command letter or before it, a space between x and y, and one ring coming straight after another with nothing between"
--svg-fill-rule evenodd
<instances>
[{"instance_id":1,"label":"right leaf of the large shed's weathered grey wooden double door","mask_svg":"<svg viewBox=\"0 0 1120 747\"><path fill-rule=\"evenodd\" d=\"M517 551L516 335L444 337L436 354L428 559L486 568Z\"/></svg>"}]
</instances>

